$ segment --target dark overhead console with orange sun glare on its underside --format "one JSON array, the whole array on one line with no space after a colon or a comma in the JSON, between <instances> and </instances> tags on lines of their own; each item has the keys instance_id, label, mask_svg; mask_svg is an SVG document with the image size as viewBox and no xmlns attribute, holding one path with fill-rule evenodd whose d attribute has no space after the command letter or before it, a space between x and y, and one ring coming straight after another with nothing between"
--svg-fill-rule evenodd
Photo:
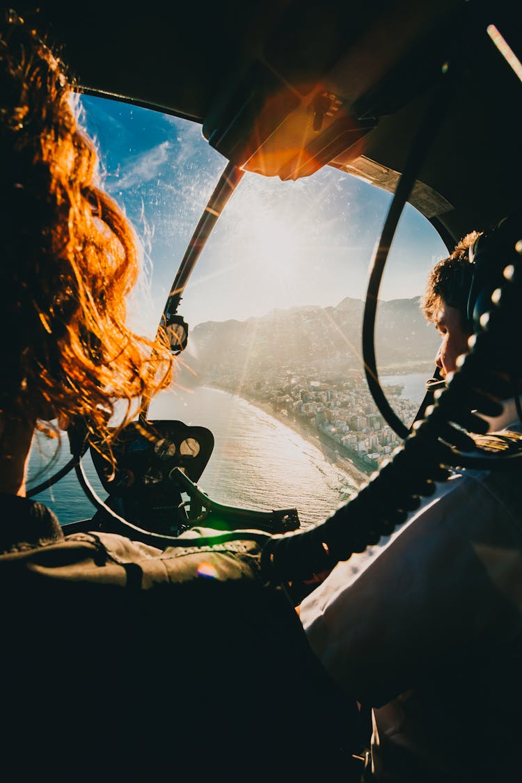
<instances>
[{"instance_id":1,"label":"dark overhead console with orange sun glare on its underside","mask_svg":"<svg viewBox=\"0 0 522 783\"><path fill-rule=\"evenodd\" d=\"M345 164L355 160L380 116L440 74L450 19L462 6L290 2L223 81L203 135L237 166L283 180L341 154Z\"/></svg>"}]
</instances>

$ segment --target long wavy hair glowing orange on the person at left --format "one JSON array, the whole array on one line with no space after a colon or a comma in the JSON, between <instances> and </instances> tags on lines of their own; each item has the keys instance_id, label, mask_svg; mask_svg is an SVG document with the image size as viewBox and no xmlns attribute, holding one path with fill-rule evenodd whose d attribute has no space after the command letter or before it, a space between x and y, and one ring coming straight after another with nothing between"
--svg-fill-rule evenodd
<instances>
[{"instance_id":1,"label":"long wavy hair glowing orange on the person at left","mask_svg":"<svg viewBox=\"0 0 522 783\"><path fill-rule=\"evenodd\" d=\"M99 187L73 83L52 50L0 13L0 415L88 417L171 381L167 341L126 326L133 229ZM76 107L75 107L76 106Z\"/></svg>"}]
</instances>

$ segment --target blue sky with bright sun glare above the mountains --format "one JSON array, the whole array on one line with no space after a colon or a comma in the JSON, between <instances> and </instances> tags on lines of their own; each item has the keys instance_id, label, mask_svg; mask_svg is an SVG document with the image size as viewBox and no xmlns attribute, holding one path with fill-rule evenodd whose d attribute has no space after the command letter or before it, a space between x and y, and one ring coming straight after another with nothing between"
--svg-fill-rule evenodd
<instances>
[{"instance_id":1,"label":"blue sky with bright sun glare above the mountains","mask_svg":"<svg viewBox=\"0 0 522 783\"><path fill-rule=\"evenodd\" d=\"M227 161L199 124L83 96L106 189L134 223L145 264L131 301L136 325L152 333L203 207ZM297 182L247 172L193 271L179 311L191 327L247 319L275 308L337 305L365 296L369 262L391 194L331 167ZM433 227L407 207L380 296L422 293L445 255Z\"/></svg>"}]
</instances>

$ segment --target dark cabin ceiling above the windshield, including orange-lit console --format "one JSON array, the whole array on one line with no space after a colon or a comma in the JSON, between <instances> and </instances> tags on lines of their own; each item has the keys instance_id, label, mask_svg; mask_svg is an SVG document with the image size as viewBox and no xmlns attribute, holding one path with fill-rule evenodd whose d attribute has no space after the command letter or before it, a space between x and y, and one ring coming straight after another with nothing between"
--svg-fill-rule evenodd
<instances>
[{"instance_id":1,"label":"dark cabin ceiling above the windshield, including orange-lit console","mask_svg":"<svg viewBox=\"0 0 522 783\"><path fill-rule=\"evenodd\" d=\"M515 4L223 0L18 8L77 84L189 117L236 165L281 179L330 164L409 197L448 246L520 206ZM489 31L489 32L488 32Z\"/></svg>"}]
</instances>

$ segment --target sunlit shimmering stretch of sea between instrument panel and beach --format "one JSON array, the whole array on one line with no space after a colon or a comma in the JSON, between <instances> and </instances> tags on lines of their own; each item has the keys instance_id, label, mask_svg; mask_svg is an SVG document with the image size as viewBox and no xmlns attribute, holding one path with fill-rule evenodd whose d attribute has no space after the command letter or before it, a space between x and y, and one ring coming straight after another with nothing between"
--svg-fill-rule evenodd
<instances>
[{"instance_id":1,"label":"sunlit shimmering stretch of sea between instrument panel and beach","mask_svg":"<svg viewBox=\"0 0 522 783\"><path fill-rule=\"evenodd\" d=\"M151 412L213 431L214 453L199 484L220 503L258 510L296 507L305 526L325 519L356 489L319 449L226 391L165 394Z\"/></svg>"}]
</instances>

